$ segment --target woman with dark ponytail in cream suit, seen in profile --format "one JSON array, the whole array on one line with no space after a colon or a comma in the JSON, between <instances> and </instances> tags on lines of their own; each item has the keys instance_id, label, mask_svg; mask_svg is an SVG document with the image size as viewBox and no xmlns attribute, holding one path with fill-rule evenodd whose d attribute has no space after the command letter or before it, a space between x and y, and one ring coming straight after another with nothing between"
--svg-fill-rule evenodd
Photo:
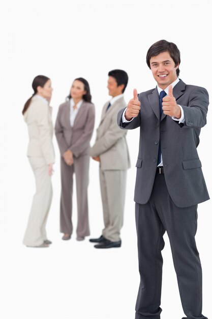
<instances>
[{"instance_id":1,"label":"woman with dark ponytail in cream suit, seen in profile","mask_svg":"<svg viewBox=\"0 0 212 319\"><path fill-rule=\"evenodd\" d=\"M51 175L54 149L52 144L52 108L49 107L52 87L44 75L33 80L34 94L23 108L22 114L28 127L27 156L36 180L36 193L25 231L23 244L28 247L48 247L46 221L52 199Z\"/></svg>"}]
</instances>

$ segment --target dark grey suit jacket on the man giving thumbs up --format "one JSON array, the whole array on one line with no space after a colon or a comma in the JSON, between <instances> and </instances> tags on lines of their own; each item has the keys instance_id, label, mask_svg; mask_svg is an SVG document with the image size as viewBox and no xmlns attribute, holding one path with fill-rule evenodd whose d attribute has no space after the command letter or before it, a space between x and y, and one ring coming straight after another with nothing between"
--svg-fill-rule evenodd
<instances>
[{"instance_id":1,"label":"dark grey suit jacket on the man giving thumbs up","mask_svg":"<svg viewBox=\"0 0 212 319\"><path fill-rule=\"evenodd\" d=\"M184 124L165 114L160 118L157 88L139 94L141 110L132 122L122 122L124 109L118 113L120 127L140 127L134 197L135 202L140 204L145 204L152 193L159 141L165 180L174 204L188 207L209 199L197 153L200 129L206 124L208 93L204 88L186 85L180 80L173 88L173 95L184 110Z\"/></svg>"}]
</instances>

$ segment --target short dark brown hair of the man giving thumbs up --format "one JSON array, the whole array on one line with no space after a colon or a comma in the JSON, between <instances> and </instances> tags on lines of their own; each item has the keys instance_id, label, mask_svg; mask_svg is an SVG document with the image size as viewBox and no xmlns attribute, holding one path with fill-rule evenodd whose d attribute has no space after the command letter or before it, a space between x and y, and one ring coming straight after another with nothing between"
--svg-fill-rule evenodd
<instances>
[{"instance_id":1,"label":"short dark brown hair of the man giving thumbs up","mask_svg":"<svg viewBox=\"0 0 212 319\"><path fill-rule=\"evenodd\" d=\"M152 57L158 56L162 52L168 51L170 54L170 57L173 59L175 66L177 64L180 64L180 52L176 44L173 42L168 42L166 40L160 40L153 45L150 46L150 48L147 51L146 54L146 63L150 69L150 59ZM179 75L179 68L176 70L177 76Z\"/></svg>"}]
</instances>

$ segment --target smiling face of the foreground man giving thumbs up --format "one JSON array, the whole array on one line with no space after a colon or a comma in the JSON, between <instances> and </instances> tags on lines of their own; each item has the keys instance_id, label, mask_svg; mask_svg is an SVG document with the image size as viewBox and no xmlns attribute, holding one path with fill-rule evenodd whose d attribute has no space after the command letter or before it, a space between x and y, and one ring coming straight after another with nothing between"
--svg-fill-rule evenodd
<instances>
[{"instance_id":1,"label":"smiling face of the foreground man giving thumbs up","mask_svg":"<svg viewBox=\"0 0 212 319\"><path fill-rule=\"evenodd\" d=\"M176 70L179 64L175 66L168 51L162 52L156 57L152 57L149 62L153 76L161 89L166 89L177 78Z\"/></svg>"}]
</instances>

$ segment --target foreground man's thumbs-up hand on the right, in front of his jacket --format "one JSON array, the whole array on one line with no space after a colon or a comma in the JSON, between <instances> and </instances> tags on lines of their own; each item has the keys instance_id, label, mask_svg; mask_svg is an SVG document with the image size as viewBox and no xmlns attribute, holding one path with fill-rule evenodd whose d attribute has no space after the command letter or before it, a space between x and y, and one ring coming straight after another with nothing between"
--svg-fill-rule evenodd
<instances>
[{"instance_id":1,"label":"foreground man's thumbs-up hand on the right, in front of his jacket","mask_svg":"<svg viewBox=\"0 0 212 319\"><path fill-rule=\"evenodd\" d=\"M181 117L181 110L173 96L173 88L171 85L169 86L168 95L163 98L162 109L163 113L166 115L176 117L177 119L180 119Z\"/></svg>"}]
</instances>

